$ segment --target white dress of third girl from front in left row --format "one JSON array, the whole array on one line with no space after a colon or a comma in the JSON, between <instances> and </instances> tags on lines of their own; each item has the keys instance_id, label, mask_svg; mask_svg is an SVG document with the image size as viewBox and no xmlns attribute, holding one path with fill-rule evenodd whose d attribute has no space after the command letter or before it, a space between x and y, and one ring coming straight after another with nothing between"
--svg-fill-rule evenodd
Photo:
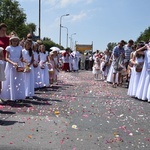
<instances>
[{"instance_id":1,"label":"white dress of third girl from front in left row","mask_svg":"<svg viewBox=\"0 0 150 150\"><path fill-rule=\"evenodd\" d=\"M34 67L34 88L39 88L41 84L41 78L40 78L40 66L38 63L38 56L39 54L37 52L33 52L34 54L34 63L38 64L37 67Z\"/></svg>"}]
</instances>

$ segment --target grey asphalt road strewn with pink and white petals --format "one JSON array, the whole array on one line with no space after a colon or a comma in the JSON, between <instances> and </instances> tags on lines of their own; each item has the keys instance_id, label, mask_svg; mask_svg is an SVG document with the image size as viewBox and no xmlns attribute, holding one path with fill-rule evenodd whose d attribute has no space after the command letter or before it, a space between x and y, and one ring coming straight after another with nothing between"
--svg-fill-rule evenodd
<instances>
[{"instance_id":1,"label":"grey asphalt road strewn with pink and white petals","mask_svg":"<svg viewBox=\"0 0 150 150\"><path fill-rule=\"evenodd\" d=\"M0 104L0 150L149 150L150 104L126 93L61 72L34 99Z\"/></svg>"}]
</instances>

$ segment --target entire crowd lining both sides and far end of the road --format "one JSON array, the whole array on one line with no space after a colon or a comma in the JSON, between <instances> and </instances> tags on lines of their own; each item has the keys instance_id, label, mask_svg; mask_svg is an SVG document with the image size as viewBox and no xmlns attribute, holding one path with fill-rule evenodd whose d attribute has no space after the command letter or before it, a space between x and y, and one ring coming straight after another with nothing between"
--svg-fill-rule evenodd
<instances>
[{"instance_id":1,"label":"entire crowd lining both sides and far end of the road","mask_svg":"<svg viewBox=\"0 0 150 150\"><path fill-rule=\"evenodd\" d=\"M67 48L61 53L52 47L48 53L41 41L27 34L20 40L0 24L0 99L16 101L33 98L35 89L57 84L59 71L91 70L94 80L128 83L128 95L150 102L150 42L135 44L121 40L113 51L79 53Z\"/></svg>"}]
</instances>

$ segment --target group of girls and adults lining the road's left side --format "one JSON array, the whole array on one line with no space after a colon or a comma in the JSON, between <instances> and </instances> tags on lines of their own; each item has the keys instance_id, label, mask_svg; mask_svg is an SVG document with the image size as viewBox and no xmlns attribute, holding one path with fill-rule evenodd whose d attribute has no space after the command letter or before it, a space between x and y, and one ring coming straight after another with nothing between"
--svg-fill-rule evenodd
<instances>
[{"instance_id":1,"label":"group of girls and adults lining the road's left side","mask_svg":"<svg viewBox=\"0 0 150 150\"><path fill-rule=\"evenodd\" d=\"M12 31L6 35L6 24L0 24L0 99L17 101L33 98L35 89L57 84L59 59L56 49L50 53L32 34L20 40Z\"/></svg>"}]
</instances>

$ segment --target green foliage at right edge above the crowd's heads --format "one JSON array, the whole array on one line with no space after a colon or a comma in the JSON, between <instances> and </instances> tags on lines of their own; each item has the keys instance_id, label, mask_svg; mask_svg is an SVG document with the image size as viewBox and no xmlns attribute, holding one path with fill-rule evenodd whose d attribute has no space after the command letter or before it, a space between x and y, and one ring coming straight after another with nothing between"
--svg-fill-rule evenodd
<instances>
[{"instance_id":1,"label":"green foliage at right edge above the crowd's heads","mask_svg":"<svg viewBox=\"0 0 150 150\"><path fill-rule=\"evenodd\" d=\"M140 41L149 41L150 39L150 27L148 27L147 29L144 30L144 32L141 32L140 36L137 38L136 42L140 42Z\"/></svg>"}]
</instances>

